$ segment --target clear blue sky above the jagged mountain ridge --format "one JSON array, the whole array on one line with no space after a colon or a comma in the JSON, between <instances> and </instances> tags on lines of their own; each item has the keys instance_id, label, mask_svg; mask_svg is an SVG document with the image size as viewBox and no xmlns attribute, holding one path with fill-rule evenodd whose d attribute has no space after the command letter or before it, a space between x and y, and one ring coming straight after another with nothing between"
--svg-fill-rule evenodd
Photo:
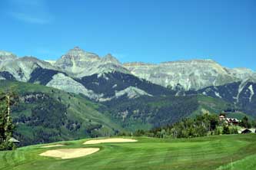
<instances>
[{"instance_id":1,"label":"clear blue sky above the jagged mountain ridge","mask_svg":"<svg viewBox=\"0 0 256 170\"><path fill-rule=\"evenodd\" d=\"M159 63L210 58L256 69L254 0L1 0L0 50L57 59L79 46Z\"/></svg>"}]
</instances>

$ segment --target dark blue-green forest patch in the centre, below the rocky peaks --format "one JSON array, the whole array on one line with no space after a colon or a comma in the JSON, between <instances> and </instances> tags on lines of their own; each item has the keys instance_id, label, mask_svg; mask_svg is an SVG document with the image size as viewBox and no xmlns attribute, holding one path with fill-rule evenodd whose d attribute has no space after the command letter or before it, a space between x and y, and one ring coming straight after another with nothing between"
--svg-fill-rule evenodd
<instances>
[{"instance_id":1,"label":"dark blue-green forest patch in the centre, below the rocky peaks","mask_svg":"<svg viewBox=\"0 0 256 170\"><path fill-rule=\"evenodd\" d=\"M146 80L141 80L131 74L120 72L93 74L75 80L83 84L88 90L102 94L102 101L118 98L123 90L125 90L126 94L129 92L132 93L135 88L138 89L137 91L144 91L145 94L148 93L148 96L175 94L173 90L168 90L165 87L150 83ZM141 93L141 95L143 95L143 93Z\"/></svg>"}]
</instances>

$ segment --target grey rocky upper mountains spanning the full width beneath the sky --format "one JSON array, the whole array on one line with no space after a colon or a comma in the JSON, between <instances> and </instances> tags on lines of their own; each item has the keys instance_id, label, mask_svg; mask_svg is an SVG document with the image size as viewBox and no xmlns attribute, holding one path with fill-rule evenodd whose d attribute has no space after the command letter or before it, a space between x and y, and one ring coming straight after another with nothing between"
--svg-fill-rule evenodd
<instances>
[{"instance_id":1,"label":"grey rocky upper mountains spanning the full width beneath the sky","mask_svg":"<svg viewBox=\"0 0 256 170\"><path fill-rule=\"evenodd\" d=\"M64 80L68 78L75 82L82 81L83 86L90 90L95 88L95 84L85 83L84 77L94 77L94 82L98 83L102 81L101 77L116 73L129 74L132 75L132 78L130 77L132 80L135 80L134 77L138 77L177 91L201 90L205 87L217 87L227 83L256 79L256 73L252 70L247 68L229 69L222 67L214 60L180 60L161 64L121 64L111 54L99 57L97 54L83 51L79 47L74 47L56 61L48 62L38 60L35 57L16 57L15 54L0 51L0 72L2 73L2 76L0 75L1 79L12 79L14 77L15 80L42 83L47 86L51 84L52 87L68 91L72 90L71 85L64 84L64 82L67 83ZM58 76L55 76L56 74ZM95 75L97 80L95 80ZM126 78L125 80L123 78L118 77L118 80L115 81L119 84L122 84L121 81L129 82ZM52 79L54 79L54 82L49 83ZM74 84L74 82L71 84ZM126 84L136 87L136 84ZM111 85L114 86L115 84ZM105 84L102 83L95 89L105 89L104 86ZM129 86L123 87L127 88ZM125 88L119 90L125 90ZM74 89L75 92L78 93L78 89ZM142 86L140 89L143 90ZM85 92L86 90L81 91ZM97 92L97 95L101 96L101 93ZM85 94L86 96L92 95L88 91ZM114 93L112 95L115 96Z\"/></svg>"}]
</instances>

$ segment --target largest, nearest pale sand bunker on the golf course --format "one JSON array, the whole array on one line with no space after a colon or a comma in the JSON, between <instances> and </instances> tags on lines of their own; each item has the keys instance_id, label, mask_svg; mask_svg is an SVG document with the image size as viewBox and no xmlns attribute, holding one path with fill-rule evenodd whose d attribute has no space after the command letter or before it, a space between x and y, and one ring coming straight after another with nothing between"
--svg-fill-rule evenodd
<instances>
[{"instance_id":1,"label":"largest, nearest pale sand bunker on the golf course","mask_svg":"<svg viewBox=\"0 0 256 170\"><path fill-rule=\"evenodd\" d=\"M55 157L59 159L75 159L81 156L90 155L98 152L98 148L80 148L80 149L56 149L43 152L42 156Z\"/></svg>"}]
</instances>

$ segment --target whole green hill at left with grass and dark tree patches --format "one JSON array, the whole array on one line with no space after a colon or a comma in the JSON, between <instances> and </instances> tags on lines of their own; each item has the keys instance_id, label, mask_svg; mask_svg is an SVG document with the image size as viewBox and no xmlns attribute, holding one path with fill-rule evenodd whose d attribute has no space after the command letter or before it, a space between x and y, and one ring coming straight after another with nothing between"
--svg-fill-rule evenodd
<instances>
[{"instance_id":1,"label":"whole green hill at left with grass and dark tree patches","mask_svg":"<svg viewBox=\"0 0 256 170\"><path fill-rule=\"evenodd\" d=\"M0 80L0 89L20 96L12 108L15 137L22 145L113 135L122 128L83 96L32 83Z\"/></svg>"}]
</instances>

